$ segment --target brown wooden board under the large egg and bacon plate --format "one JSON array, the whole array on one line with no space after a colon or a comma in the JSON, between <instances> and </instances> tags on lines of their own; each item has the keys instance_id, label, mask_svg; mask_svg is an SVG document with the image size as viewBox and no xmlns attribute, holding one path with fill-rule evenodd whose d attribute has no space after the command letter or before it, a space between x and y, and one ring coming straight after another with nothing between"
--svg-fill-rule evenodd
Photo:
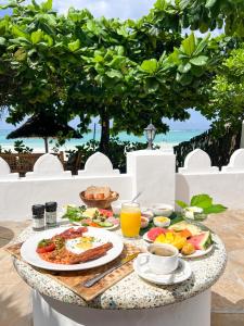
<instances>
[{"instance_id":1,"label":"brown wooden board under the large egg and bacon plate","mask_svg":"<svg viewBox=\"0 0 244 326\"><path fill-rule=\"evenodd\" d=\"M22 247L22 243L17 243L17 244L13 244L13 246L5 248L5 250L11 255L15 256L18 260L22 260L21 247ZM74 291L76 294L78 294L79 297L85 299L86 301L90 301L90 300L93 300L99 294L103 293L105 290L107 290L110 287L112 287L113 285L118 283L124 277L129 275L133 271L133 266L132 266L133 262L130 261L130 262L126 263L125 265L123 265L121 267L113 271L112 273L107 274L104 278L102 278L99 283L97 283L95 285L93 285L90 288L85 288L81 284L85 280L91 278L92 276L95 276L99 273L105 272L110 267L118 264L121 261L121 259L124 259L125 256L132 254L132 253L139 253L139 252L141 252L141 250L139 248L137 248L133 244L127 243L124 246L124 250L123 250L121 254L116 260L114 260L113 262L111 262L106 265L100 266L100 267L85 269L85 271L75 271L75 272L53 272L53 271L37 268L34 266L33 266L33 268L35 268L39 273L42 273L42 274L55 279L57 283L67 287L68 289Z\"/></svg>"}]
</instances>

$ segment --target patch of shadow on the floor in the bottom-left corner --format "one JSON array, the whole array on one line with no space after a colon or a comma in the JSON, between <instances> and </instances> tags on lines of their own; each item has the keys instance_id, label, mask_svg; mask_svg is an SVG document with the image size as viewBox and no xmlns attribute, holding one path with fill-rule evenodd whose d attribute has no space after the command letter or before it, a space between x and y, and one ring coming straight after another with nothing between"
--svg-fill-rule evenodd
<instances>
[{"instance_id":1,"label":"patch of shadow on the floor in the bottom-left corner","mask_svg":"<svg viewBox=\"0 0 244 326\"><path fill-rule=\"evenodd\" d=\"M2 298L0 296L0 325L1 326L33 326L33 315L23 315L14 304L14 296Z\"/></svg>"}]
</instances>

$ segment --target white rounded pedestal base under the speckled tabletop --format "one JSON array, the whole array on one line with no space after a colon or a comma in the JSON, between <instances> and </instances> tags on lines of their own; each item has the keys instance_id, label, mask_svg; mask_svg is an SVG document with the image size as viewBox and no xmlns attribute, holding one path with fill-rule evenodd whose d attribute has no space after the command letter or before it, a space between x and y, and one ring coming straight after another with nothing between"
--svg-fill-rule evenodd
<instances>
[{"instance_id":1,"label":"white rounded pedestal base under the speckled tabletop","mask_svg":"<svg viewBox=\"0 0 244 326\"><path fill-rule=\"evenodd\" d=\"M33 290L34 326L210 326L210 289L156 309L100 310L56 301Z\"/></svg>"}]
</instances>

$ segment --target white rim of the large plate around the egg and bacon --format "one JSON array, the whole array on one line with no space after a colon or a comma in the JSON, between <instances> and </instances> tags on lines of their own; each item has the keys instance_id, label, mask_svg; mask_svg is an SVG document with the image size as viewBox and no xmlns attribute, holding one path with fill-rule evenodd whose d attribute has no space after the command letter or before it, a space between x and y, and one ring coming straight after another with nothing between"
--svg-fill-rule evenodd
<instances>
[{"instance_id":1,"label":"white rim of the large plate around the egg and bacon","mask_svg":"<svg viewBox=\"0 0 244 326\"><path fill-rule=\"evenodd\" d=\"M69 227L67 227L69 228ZM77 227L74 227L77 228ZM102 243L105 242L112 242L113 248L110 249L106 253L106 255L101 256L100 259L97 259L94 261L90 261L87 263L80 263L80 264L74 264L74 265L64 265L64 264L54 264L47 262L42 260L38 253L36 252L37 244L40 240L42 239L49 239L53 237L54 235L61 234L65 229L62 228L53 228L49 230L44 230L42 233L36 234L29 239L27 239L21 248L21 255L22 258L29 264L40 267L40 268L46 268L46 269L51 269L51 271L80 271L80 269L88 269L88 268L93 268L97 266L104 265L114 259L116 259L123 251L123 241L121 239L114 233L110 233L105 229L101 228L95 228L95 227L88 227L88 231L85 234L86 236L92 236L95 238L101 239Z\"/></svg>"}]
</instances>

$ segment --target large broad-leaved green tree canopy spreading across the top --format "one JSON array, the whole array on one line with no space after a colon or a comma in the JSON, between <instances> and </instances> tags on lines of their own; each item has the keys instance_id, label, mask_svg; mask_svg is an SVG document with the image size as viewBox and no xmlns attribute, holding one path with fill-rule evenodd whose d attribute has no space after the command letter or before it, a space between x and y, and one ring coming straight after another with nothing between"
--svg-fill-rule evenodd
<instances>
[{"instance_id":1,"label":"large broad-leaved green tree canopy spreading across the top","mask_svg":"<svg viewBox=\"0 0 244 326\"><path fill-rule=\"evenodd\" d=\"M231 0L157 0L138 21L73 8L60 15L51 0L21 2L10 1L13 13L0 20L0 105L11 123L41 111L63 122L78 115L82 133L100 116L103 152L111 133L139 135L151 118L164 133L162 117L183 121L189 108L206 108L206 87L243 33L244 5ZM184 35L224 21L232 38Z\"/></svg>"}]
</instances>

